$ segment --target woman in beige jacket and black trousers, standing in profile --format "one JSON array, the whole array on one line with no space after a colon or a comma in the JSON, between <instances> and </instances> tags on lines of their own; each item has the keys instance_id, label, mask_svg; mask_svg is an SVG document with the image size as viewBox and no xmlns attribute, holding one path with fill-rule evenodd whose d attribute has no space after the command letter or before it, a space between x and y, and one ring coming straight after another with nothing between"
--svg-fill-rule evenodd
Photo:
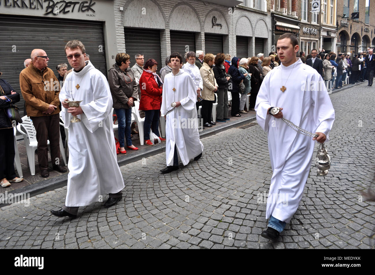
<instances>
[{"instance_id":1,"label":"woman in beige jacket and black trousers, standing in profile","mask_svg":"<svg viewBox=\"0 0 375 275\"><path fill-rule=\"evenodd\" d=\"M212 115L212 104L215 101L215 92L217 91L217 83L212 71L213 64L214 64L214 55L213 54L205 54L203 57L203 65L199 69L201 73L201 77L203 80L203 90L201 91L202 95L202 118L203 118L203 126L212 127L212 125L216 125L215 122L211 120Z\"/></svg>"}]
</instances>

